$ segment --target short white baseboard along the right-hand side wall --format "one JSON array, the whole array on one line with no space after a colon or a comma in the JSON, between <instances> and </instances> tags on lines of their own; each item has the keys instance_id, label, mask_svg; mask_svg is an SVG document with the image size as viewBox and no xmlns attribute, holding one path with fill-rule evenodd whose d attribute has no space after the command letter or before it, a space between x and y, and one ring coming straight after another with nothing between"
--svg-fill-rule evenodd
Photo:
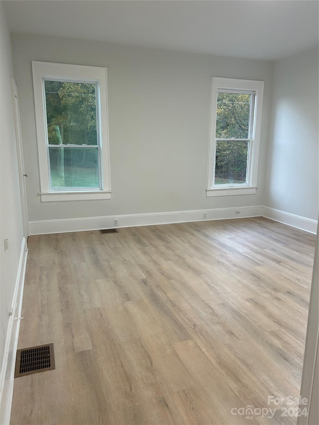
<instances>
[{"instance_id":1,"label":"short white baseboard along the right-hand side wall","mask_svg":"<svg viewBox=\"0 0 319 425\"><path fill-rule=\"evenodd\" d=\"M275 208L263 207L263 217L280 223L288 224L288 226L297 227L310 233L317 233L318 221L311 218L302 217L300 215L291 214L285 211L276 210Z\"/></svg>"}]
</instances>

